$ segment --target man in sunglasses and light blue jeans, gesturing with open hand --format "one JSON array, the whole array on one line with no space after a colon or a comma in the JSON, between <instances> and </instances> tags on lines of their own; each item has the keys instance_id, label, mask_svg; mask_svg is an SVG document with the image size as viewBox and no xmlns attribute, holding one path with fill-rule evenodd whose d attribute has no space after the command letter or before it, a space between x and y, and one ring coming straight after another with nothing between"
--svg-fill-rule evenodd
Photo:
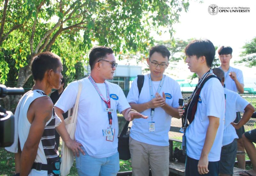
<instances>
[{"instance_id":1,"label":"man in sunglasses and light blue jeans, gesturing with open hand","mask_svg":"<svg viewBox=\"0 0 256 176\"><path fill-rule=\"evenodd\" d=\"M85 155L80 153L76 156L76 168L80 176L116 176L119 171L117 110L127 121L147 116L131 109L122 89L106 81L113 79L117 66L111 48L92 48L89 64L90 76L80 80L83 88L75 132L75 139L82 144ZM56 114L62 120L62 114L75 105L77 92L78 83L74 81L68 84L54 105Z\"/></svg>"}]
</instances>

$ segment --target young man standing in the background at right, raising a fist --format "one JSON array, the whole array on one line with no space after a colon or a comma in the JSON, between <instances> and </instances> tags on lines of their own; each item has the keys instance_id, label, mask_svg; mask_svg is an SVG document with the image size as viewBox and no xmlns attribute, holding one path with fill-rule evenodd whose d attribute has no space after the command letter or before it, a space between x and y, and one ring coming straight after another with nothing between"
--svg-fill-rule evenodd
<instances>
[{"instance_id":1,"label":"young man standing in the background at right, raising a fist","mask_svg":"<svg viewBox=\"0 0 256 176\"><path fill-rule=\"evenodd\" d=\"M220 67L225 73L225 82L224 87L239 93L244 93L244 77L243 72L240 69L230 66L230 60L232 59L232 48L230 46L220 46L218 48L218 54L220 59ZM240 112L236 113L237 123L241 120ZM244 151L244 144L242 140L242 134L244 133L244 126L241 126L240 129L236 129L236 134L238 135L237 140L237 150ZM245 169L245 155L237 155L238 167Z\"/></svg>"}]
</instances>

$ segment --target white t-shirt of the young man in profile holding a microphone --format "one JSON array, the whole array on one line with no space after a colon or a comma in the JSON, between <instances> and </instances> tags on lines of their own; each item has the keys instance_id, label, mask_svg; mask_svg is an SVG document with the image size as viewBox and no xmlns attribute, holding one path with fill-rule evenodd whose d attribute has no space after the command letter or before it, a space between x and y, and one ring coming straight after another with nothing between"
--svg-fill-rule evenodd
<instances>
[{"instance_id":1,"label":"white t-shirt of the young man in profile holding a microphone","mask_svg":"<svg viewBox=\"0 0 256 176\"><path fill-rule=\"evenodd\" d=\"M186 130L187 155L199 160L209 125L208 116L220 118L220 125L208 155L209 161L219 161L225 120L225 97L220 81L210 78L203 86L193 122Z\"/></svg>"}]
</instances>

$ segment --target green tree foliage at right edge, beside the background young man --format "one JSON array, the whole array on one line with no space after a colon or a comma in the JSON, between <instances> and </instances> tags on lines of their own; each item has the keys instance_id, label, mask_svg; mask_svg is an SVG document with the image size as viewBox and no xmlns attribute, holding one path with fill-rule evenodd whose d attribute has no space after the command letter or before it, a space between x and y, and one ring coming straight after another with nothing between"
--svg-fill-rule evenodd
<instances>
[{"instance_id":1,"label":"green tree foliage at right edge, beside the background young man","mask_svg":"<svg viewBox=\"0 0 256 176\"><path fill-rule=\"evenodd\" d=\"M245 62L248 67L256 66L256 37L247 42L242 48L244 49L240 54L242 59L237 62Z\"/></svg>"}]
</instances>

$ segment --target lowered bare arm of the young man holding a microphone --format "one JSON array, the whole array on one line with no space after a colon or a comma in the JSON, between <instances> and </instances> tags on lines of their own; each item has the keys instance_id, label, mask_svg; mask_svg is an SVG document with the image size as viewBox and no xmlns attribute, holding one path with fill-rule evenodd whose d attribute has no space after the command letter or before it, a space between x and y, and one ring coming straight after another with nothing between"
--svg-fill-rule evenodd
<instances>
[{"instance_id":1,"label":"lowered bare arm of the young man holding a microphone","mask_svg":"<svg viewBox=\"0 0 256 176\"><path fill-rule=\"evenodd\" d=\"M216 137L218 127L220 125L220 118L214 116L208 116L209 126L207 128L204 147L201 152L200 159L198 161L197 170L200 174L208 173L208 154L212 148L213 142Z\"/></svg>"}]
</instances>

